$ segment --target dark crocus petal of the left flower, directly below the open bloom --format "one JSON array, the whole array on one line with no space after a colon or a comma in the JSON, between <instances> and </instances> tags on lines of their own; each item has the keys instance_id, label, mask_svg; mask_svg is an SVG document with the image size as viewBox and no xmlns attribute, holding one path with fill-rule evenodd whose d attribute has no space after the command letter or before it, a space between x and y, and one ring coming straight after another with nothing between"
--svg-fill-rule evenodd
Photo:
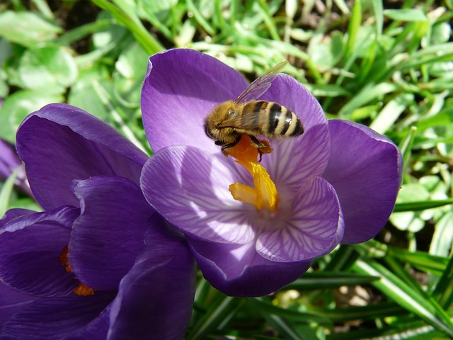
<instances>
[{"instance_id":1,"label":"dark crocus petal of the left flower, directly below the open bloom","mask_svg":"<svg viewBox=\"0 0 453 340\"><path fill-rule=\"evenodd\" d=\"M145 240L112 304L109 339L183 339L192 315L195 261L183 236L157 214Z\"/></svg>"}]
</instances>

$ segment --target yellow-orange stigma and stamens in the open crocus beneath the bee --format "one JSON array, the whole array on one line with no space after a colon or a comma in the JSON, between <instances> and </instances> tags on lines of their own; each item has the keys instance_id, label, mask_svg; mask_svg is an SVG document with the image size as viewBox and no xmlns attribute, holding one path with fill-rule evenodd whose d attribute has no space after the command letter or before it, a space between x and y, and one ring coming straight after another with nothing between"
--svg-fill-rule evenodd
<instances>
[{"instance_id":1,"label":"yellow-orange stigma and stamens in the open crocus beneath the bee","mask_svg":"<svg viewBox=\"0 0 453 340\"><path fill-rule=\"evenodd\" d=\"M260 140L260 142L267 148L267 152L264 153L272 152L267 140ZM275 212L278 203L280 203L277 188L265 167L258 164L257 159L260 152L251 138L248 135L242 135L241 140L234 147L229 147L225 151L236 159L235 162L241 164L251 173L255 186L252 188L241 183L231 184L229 191L233 198L243 203L250 203L258 210L266 209Z\"/></svg>"}]
</instances>

